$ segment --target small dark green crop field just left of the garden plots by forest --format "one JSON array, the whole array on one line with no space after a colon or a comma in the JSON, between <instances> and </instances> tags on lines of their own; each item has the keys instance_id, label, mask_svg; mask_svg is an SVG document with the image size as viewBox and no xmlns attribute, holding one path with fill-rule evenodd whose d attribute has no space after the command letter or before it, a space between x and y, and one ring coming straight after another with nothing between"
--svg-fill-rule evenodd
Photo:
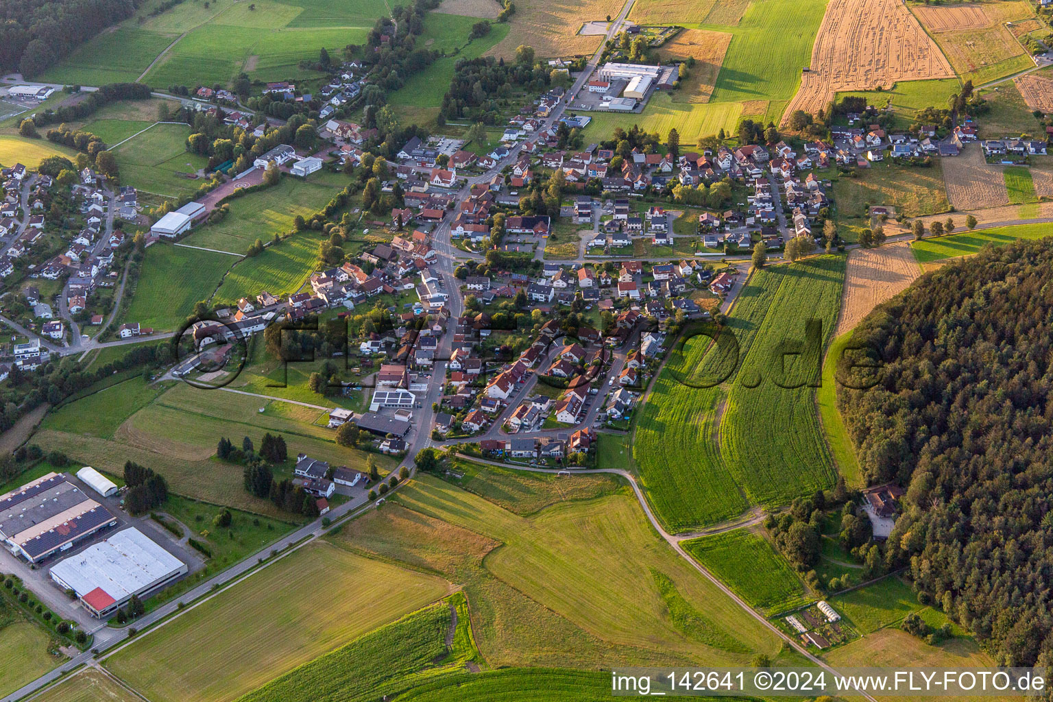
<instances>
[{"instance_id":1,"label":"small dark green crop field just left of the garden plots by forest","mask_svg":"<svg viewBox=\"0 0 1053 702\"><path fill-rule=\"evenodd\" d=\"M692 539L682 545L736 595L770 615L798 607L810 599L790 564L758 534L741 528ZM743 567L746 563L749 567Z\"/></svg>"}]
</instances>

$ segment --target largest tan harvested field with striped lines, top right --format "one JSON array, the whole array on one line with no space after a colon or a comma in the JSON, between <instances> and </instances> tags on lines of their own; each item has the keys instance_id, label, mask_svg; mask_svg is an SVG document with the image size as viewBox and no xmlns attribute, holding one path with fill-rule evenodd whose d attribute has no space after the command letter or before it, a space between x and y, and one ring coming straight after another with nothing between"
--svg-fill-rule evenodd
<instances>
[{"instance_id":1,"label":"largest tan harvested field with striped lines, top right","mask_svg":"<svg viewBox=\"0 0 1053 702\"><path fill-rule=\"evenodd\" d=\"M951 64L899 0L831 0L812 47L810 71L787 105L817 114L840 91L892 87L900 80L953 78Z\"/></svg>"}]
</instances>

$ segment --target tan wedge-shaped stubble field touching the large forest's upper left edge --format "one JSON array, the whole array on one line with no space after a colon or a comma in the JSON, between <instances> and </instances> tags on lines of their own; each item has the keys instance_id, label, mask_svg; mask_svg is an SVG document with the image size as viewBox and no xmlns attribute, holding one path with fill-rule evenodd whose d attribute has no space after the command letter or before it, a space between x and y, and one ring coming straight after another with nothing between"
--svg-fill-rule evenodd
<instances>
[{"instance_id":1,"label":"tan wedge-shaped stubble field touching the large forest's upper left edge","mask_svg":"<svg viewBox=\"0 0 1053 702\"><path fill-rule=\"evenodd\" d=\"M854 328L871 309L906 289L920 273L907 241L853 249L845 270L841 314L834 337Z\"/></svg>"}]
</instances>

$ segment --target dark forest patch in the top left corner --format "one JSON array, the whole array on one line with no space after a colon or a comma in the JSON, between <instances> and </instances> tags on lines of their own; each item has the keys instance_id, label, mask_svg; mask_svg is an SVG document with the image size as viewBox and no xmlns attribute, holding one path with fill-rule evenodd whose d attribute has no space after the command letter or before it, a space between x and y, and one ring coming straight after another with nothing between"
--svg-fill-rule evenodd
<instances>
[{"instance_id":1,"label":"dark forest patch in the top left corner","mask_svg":"<svg viewBox=\"0 0 1053 702\"><path fill-rule=\"evenodd\" d=\"M0 72L33 78L85 40L131 17L140 0L3 0Z\"/></svg>"}]
</instances>

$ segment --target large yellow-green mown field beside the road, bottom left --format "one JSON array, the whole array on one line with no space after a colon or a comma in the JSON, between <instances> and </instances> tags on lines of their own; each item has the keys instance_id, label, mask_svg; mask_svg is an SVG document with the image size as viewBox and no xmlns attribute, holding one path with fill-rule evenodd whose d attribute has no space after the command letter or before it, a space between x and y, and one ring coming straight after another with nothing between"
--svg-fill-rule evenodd
<instances>
[{"instance_id":1,"label":"large yellow-green mown field beside the road, bottom left","mask_svg":"<svg viewBox=\"0 0 1053 702\"><path fill-rule=\"evenodd\" d=\"M324 604L307 596L319 583ZM105 665L155 702L234 700L449 590L440 578L312 543L143 635Z\"/></svg>"}]
</instances>

